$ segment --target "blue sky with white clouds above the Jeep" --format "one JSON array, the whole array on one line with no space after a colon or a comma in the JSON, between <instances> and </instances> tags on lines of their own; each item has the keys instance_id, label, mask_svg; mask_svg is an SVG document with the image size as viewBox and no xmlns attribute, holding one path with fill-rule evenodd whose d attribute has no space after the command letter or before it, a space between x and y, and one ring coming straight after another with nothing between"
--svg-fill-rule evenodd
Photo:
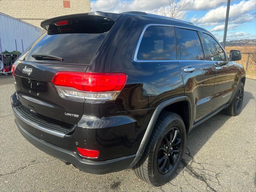
<instances>
[{"instance_id":1,"label":"blue sky with white clouds above the Jeep","mask_svg":"<svg viewBox=\"0 0 256 192\"><path fill-rule=\"evenodd\" d=\"M183 0L179 19L201 26L223 40L227 0ZM91 0L93 11L160 14L168 0ZM256 38L256 0L231 0L227 41Z\"/></svg>"}]
</instances>

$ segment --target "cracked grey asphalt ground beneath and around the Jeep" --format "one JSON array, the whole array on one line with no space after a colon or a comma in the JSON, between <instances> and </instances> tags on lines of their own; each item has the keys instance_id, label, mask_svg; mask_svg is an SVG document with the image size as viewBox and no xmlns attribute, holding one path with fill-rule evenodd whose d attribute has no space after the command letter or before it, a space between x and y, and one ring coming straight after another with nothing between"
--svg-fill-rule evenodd
<instances>
[{"instance_id":1,"label":"cracked grey asphalt ground beneath and around the Jeep","mask_svg":"<svg viewBox=\"0 0 256 192\"><path fill-rule=\"evenodd\" d=\"M162 187L123 170L80 172L32 146L14 123L12 76L0 77L1 191L256 191L256 81L246 79L240 116L215 115L188 136L174 179Z\"/></svg>"}]
</instances>

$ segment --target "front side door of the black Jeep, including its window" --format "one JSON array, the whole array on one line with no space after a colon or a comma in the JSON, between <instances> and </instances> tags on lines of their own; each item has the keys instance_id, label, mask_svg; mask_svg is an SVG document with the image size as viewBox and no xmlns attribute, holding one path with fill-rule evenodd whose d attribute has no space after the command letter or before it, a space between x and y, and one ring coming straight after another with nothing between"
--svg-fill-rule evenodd
<instances>
[{"instance_id":1,"label":"front side door of the black Jeep, including its window","mask_svg":"<svg viewBox=\"0 0 256 192\"><path fill-rule=\"evenodd\" d=\"M227 62L227 56L217 40L208 33L202 32L201 36L206 60L214 65L216 72L214 104L212 106L212 110L216 110L230 100L236 72L233 71L232 62Z\"/></svg>"}]
</instances>

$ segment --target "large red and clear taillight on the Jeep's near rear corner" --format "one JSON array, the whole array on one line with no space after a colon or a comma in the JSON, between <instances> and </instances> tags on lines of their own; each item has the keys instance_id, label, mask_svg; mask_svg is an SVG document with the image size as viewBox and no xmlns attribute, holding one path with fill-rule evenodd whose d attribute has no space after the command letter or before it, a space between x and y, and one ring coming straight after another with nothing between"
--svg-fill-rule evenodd
<instances>
[{"instance_id":1,"label":"large red and clear taillight on the Jeep's near rear corner","mask_svg":"<svg viewBox=\"0 0 256 192\"><path fill-rule=\"evenodd\" d=\"M52 83L64 98L115 100L126 80L124 73L58 72Z\"/></svg>"}]
</instances>

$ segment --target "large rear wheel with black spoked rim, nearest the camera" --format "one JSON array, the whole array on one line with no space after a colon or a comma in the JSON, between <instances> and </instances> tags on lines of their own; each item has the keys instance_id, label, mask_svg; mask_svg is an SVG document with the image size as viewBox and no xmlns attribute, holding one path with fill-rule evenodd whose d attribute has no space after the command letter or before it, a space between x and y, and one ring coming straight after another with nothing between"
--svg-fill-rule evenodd
<instances>
[{"instance_id":1,"label":"large rear wheel with black spoked rim, nearest the camera","mask_svg":"<svg viewBox=\"0 0 256 192\"><path fill-rule=\"evenodd\" d=\"M161 113L142 158L133 168L136 176L153 186L169 182L182 160L185 141L182 118L173 112Z\"/></svg>"}]
</instances>

